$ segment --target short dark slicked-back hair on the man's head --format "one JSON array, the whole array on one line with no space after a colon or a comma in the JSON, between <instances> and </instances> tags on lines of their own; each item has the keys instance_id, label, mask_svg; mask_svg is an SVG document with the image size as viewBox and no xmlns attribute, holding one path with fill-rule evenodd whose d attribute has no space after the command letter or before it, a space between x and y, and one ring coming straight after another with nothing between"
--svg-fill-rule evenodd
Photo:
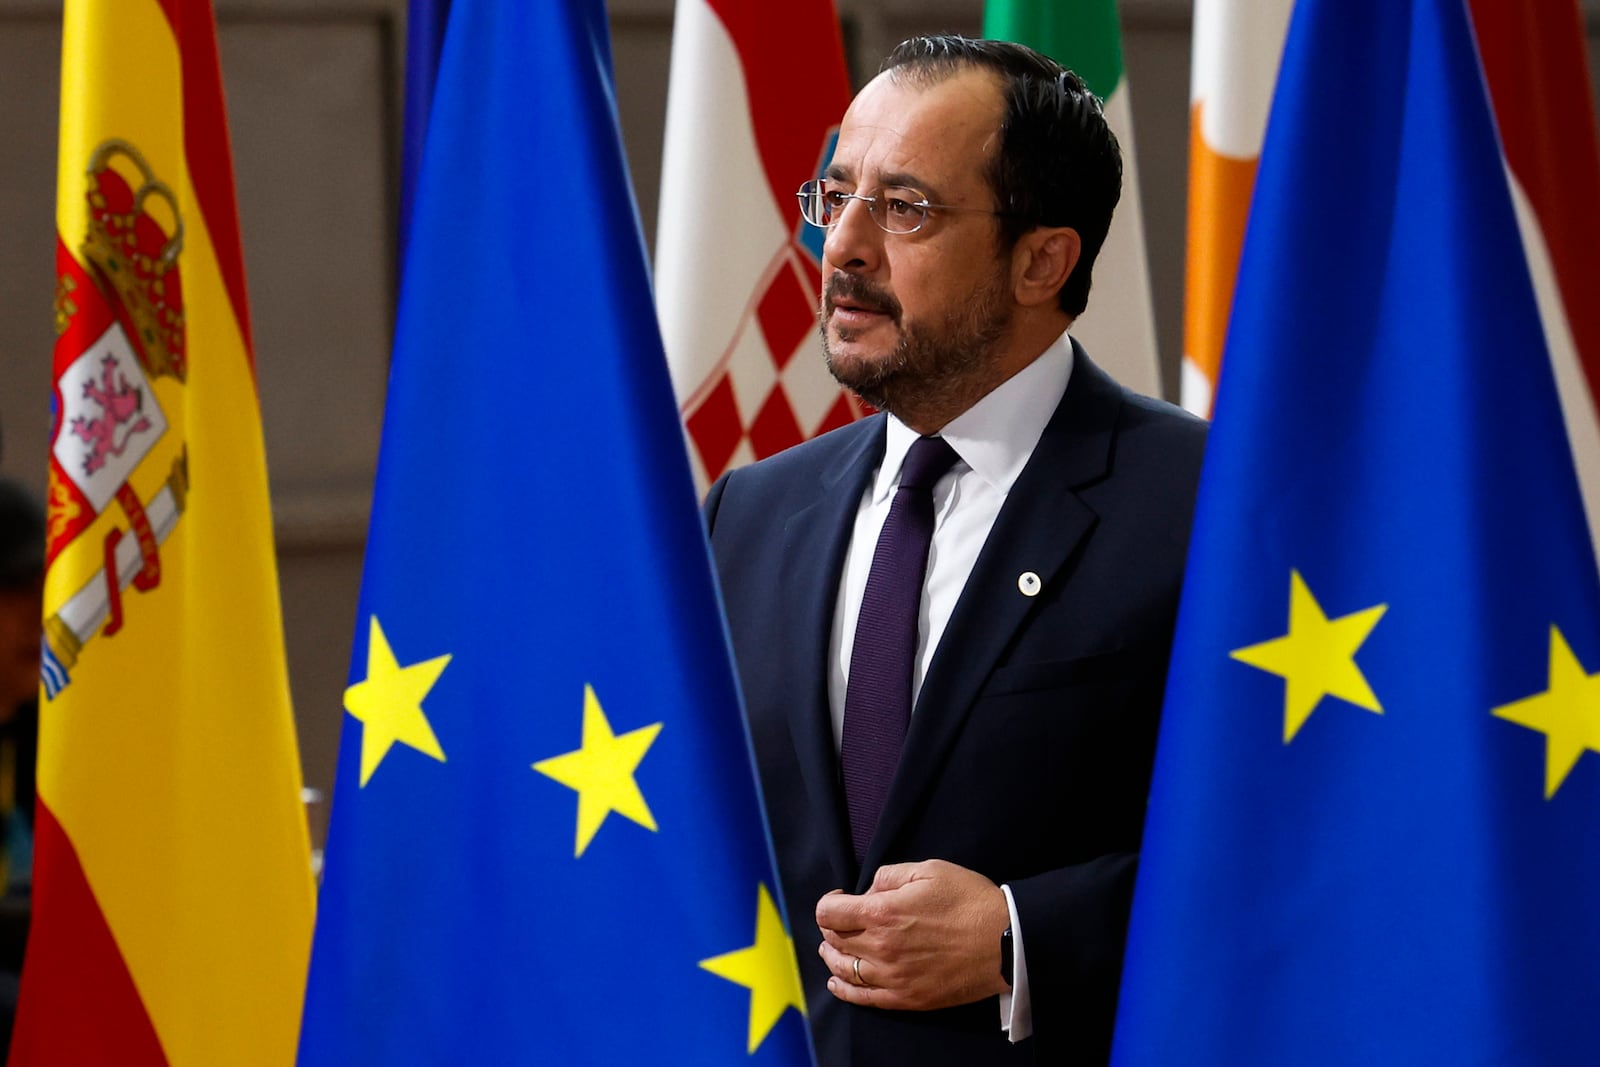
<instances>
[{"instance_id":1,"label":"short dark slicked-back hair on the man's head","mask_svg":"<svg viewBox=\"0 0 1600 1067\"><path fill-rule=\"evenodd\" d=\"M883 70L914 85L936 85L973 67L998 75L1005 94L1000 152L989 170L1005 213L1002 248L1038 226L1077 230L1083 250L1059 299L1061 310L1080 315L1094 258L1122 197L1117 138L1083 78L1024 45L936 34L901 42L883 61Z\"/></svg>"}]
</instances>

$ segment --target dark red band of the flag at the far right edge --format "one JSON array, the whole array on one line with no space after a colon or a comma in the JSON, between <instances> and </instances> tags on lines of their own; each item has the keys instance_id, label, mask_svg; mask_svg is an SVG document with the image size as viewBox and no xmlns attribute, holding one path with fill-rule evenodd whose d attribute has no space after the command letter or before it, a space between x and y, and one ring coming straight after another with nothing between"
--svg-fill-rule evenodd
<instances>
[{"instance_id":1,"label":"dark red band of the flag at the far right edge","mask_svg":"<svg viewBox=\"0 0 1600 1067\"><path fill-rule=\"evenodd\" d=\"M1578 0L1470 0L1494 122L1550 250L1589 392L1600 405L1600 141Z\"/></svg>"}]
</instances>

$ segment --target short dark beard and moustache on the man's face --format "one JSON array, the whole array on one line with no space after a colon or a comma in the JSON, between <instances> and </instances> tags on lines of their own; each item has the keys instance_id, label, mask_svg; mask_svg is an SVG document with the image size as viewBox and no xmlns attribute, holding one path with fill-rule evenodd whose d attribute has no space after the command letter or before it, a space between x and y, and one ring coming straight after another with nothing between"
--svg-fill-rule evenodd
<instances>
[{"instance_id":1,"label":"short dark beard and moustache on the man's face","mask_svg":"<svg viewBox=\"0 0 1600 1067\"><path fill-rule=\"evenodd\" d=\"M1008 275L1008 270L997 270L990 285L933 325L906 325L899 301L861 275L832 275L822 293L821 320L829 373L874 408L902 421L942 411L954 418L997 384L989 381L994 365L989 357L1011 325L1005 288ZM835 355L827 320L835 301L845 298L888 315L899 326L899 344L893 352L875 360ZM853 333L840 330L840 341L850 341Z\"/></svg>"}]
</instances>

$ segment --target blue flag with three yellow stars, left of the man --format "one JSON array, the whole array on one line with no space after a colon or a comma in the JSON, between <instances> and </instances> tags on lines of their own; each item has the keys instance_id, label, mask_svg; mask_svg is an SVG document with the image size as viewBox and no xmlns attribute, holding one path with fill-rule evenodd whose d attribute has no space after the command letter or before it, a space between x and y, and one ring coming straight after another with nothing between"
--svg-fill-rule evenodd
<instances>
[{"instance_id":1,"label":"blue flag with three yellow stars, left of the man","mask_svg":"<svg viewBox=\"0 0 1600 1067\"><path fill-rule=\"evenodd\" d=\"M302 1064L810 1062L600 0L454 0Z\"/></svg>"}]
</instances>

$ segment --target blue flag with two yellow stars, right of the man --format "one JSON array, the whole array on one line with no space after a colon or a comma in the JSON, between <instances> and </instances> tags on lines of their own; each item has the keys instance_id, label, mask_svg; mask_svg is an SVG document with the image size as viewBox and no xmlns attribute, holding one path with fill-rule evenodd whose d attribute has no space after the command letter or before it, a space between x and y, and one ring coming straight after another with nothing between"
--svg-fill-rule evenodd
<instances>
[{"instance_id":1,"label":"blue flag with two yellow stars, right of the man","mask_svg":"<svg viewBox=\"0 0 1600 1067\"><path fill-rule=\"evenodd\" d=\"M1600 1062L1600 579L1461 0L1299 0L1122 1067Z\"/></svg>"}]
</instances>

